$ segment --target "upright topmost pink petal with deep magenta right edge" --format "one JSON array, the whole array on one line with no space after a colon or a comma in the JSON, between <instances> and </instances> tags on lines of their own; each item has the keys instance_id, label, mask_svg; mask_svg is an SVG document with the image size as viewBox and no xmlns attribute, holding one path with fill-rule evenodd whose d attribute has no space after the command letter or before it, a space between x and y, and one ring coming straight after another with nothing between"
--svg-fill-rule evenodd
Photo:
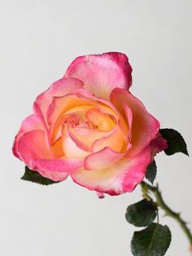
<instances>
[{"instance_id":1,"label":"upright topmost pink petal with deep magenta right edge","mask_svg":"<svg viewBox=\"0 0 192 256\"><path fill-rule=\"evenodd\" d=\"M128 89L132 83L132 68L126 55L118 52L86 55L76 58L64 77L75 77L84 82L85 89L109 99L115 87Z\"/></svg>"}]
</instances>

